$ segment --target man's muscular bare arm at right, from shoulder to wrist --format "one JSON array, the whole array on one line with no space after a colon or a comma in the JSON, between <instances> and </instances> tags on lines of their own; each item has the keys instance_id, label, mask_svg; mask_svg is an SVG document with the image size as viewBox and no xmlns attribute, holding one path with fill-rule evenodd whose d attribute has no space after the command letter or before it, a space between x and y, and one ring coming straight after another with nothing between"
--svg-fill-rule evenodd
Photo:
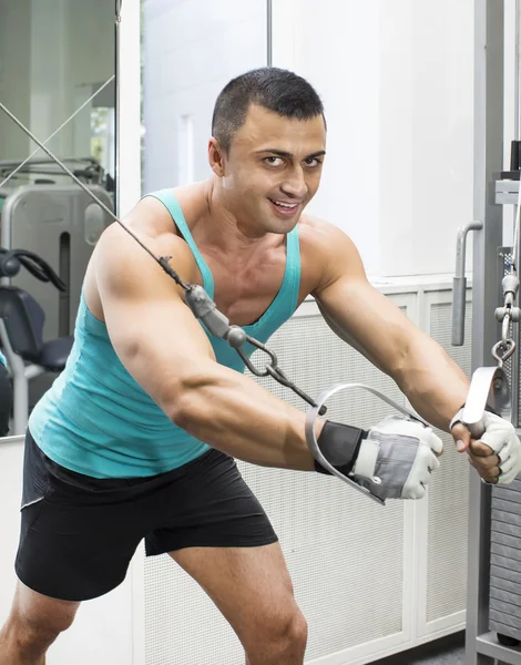
<instances>
[{"instance_id":1,"label":"man's muscular bare arm at right, from shoulder to wrist","mask_svg":"<svg viewBox=\"0 0 521 665\"><path fill-rule=\"evenodd\" d=\"M321 234L326 273L314 293L330 328L389 375L428 422L449 431L467 400L469 381L458 365L367 280L353 242L338 228Z\"/></svg>"}]
</instances>

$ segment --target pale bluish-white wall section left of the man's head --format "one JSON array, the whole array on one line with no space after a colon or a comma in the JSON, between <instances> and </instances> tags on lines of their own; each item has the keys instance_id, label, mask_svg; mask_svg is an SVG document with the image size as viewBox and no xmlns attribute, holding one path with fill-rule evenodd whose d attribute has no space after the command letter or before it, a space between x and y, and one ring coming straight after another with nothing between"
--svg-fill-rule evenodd
<instances>
[{"instance_id":1,"label":"pale bluish-white wall section left of the man's head","mask_svg":"<svg viewBox=\"0 0 521 665\"><path fill-rule=\"evenodd\" d=\"M207 177L212 110L266 64L265 0L144 0L145 191Z\"/></svg>"}]
</instances>

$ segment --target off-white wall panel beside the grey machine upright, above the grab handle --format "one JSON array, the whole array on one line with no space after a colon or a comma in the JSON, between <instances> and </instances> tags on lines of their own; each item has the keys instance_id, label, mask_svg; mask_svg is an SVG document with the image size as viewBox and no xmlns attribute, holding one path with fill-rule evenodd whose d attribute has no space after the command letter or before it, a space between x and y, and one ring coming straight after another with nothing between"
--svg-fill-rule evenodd
<instances>
[{"instance_id":1,"label":"off-white wall panel beside the grey machine upright, above the grab handle","mask_svg":"<svg viewBox=\"0 0 521 665\"><path fill-rule=\"evenodd\" d=\"M380 10L380 272L450 273L472 218L473 1Z\"/></svg>"}]
</instances>

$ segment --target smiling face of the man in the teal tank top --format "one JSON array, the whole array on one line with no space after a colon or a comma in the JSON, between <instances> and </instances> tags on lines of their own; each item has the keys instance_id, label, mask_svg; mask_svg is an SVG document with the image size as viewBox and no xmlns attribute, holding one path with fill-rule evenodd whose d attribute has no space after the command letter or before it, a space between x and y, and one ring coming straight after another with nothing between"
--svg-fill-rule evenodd
<instances>
[{"instance_id":1,"label":"smiling face of the man in the teal tank top","mask_svg":"<svg viewBox=\"0 0 521 665\"><path fill-rule=\"evenodd\" d=\"M289 233L318 188L325 149L321 115L294 120L252 105L219 154L226 206L252 231Z\"/></svg>"}]
</instances>

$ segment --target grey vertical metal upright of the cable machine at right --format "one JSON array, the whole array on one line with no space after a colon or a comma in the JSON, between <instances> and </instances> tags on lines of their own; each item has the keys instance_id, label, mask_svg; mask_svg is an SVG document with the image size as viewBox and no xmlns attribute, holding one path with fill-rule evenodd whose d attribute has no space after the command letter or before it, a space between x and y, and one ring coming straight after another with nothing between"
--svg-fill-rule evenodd
<instances>
[{"instance_id":1,"label":"grey vertical metal upright of the cable machine at right","mask_svg":"<svg viewBox=\"0 0 521 665\"><path fill-rule=\"evenodd\" d=\"M503 0L474 1L474 232L472 283L472 369L492 362L499 339L498 248L502 244L502 208L496 205L494 174L503 161ZM467 665L492 665L478 651L488 632L490 583L490 488L471 472L467 602Z\"/></svg>"}]
</instances>

